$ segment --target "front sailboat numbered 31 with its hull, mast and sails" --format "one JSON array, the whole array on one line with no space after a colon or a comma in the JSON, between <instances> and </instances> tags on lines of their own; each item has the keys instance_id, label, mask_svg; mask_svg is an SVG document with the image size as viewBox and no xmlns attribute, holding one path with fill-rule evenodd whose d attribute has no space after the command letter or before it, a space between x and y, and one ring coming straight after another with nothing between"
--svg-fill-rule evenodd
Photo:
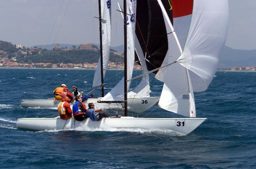
<instances>
[{"instance_id":1,"label":"front sailboat numbered 31 with its hull, mast and sails","mask_svg":"<svg viewBox=\"0 0 256 169\"><path fill-rule=\"evenodd\" d=\"M102 0L101 4L104 3L105 0ZM131 80L135 79L132 78L135 23L140 17L147 22L144 25L149 26L146 28L148 31L161 31L168 41L168 51L161 66L148 71L155 72L155 78L164 82L158 105L172 113L183 115L184 118L128 117L127 93ZM27 130L58 130L82 126L101 129L145 128L170 130L177 135L189 134L206 120L196 118L193 92L206 90L214 77L218 57L227 37L228 19L227 0L124 0L125 77L124 83L119 86L121 88L123 85L123 92L119 93L119 97L110 92L103 101L123 101L125 116L104 118L97 122L89 119L77 122L74 118L19 118L17 127ZM139 29L143 30L143 27ZM140 31L142 38L138 39L144 39L143 31ZM149 49L147 46L142 49L148 51L144 58L146 64L152 64L154 59L151 58Z\"/></svg>"}]
</instances>

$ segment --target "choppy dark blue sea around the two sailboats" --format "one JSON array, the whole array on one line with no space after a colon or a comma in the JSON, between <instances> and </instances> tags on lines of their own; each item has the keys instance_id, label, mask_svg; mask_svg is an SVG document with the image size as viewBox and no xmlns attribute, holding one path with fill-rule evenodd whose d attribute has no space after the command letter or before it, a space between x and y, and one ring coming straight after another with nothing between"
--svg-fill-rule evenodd
<instances>
[{"instance_id":1,"label":"choppy dark blue sea around the two sailboats","mask_svg":"<svg viewBox=\"0 0 256 169\"><path fill-rule=\"evenodd\" d=\"M122 71L108 71L105 91ZM135 71L135 76L141 71ZM204 92L194 93L197 117L207 118L186 136L142 128L45 130L16 127L18 118L50 117L55 108L23 108L22 99L53 97L61 84L88 95L94 70L0 69L0 168L2 169L255 169L256 72L217 71ZM151 96L163 83L150 75ZM139 84L132 82L131 87ZM114 110L105 110L115 114ZM120 112L122 115L123 112ZM131 112L128 113L131 115ZM154 105L134 117L177 117Z\"/></svg>"}]
</instances>

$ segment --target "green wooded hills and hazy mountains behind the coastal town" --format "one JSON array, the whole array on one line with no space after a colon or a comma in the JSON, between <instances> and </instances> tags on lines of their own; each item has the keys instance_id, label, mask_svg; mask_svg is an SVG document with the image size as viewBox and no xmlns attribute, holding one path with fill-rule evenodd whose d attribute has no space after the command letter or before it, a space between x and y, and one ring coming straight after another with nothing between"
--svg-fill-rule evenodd
<instances>
[{"instance_id":1,"label":"green wooded hills and hazy mountains behind the coastal town","mask_svg":"<svg viewBox=\"0 0 256 169\"><path fill-rule=\"evenodd\" d=\"M0 50L9 53L9 57L17 57L17 61L21 63L83 63L83 62L98 62L100 57L100 51L88 51L88 50L71 50L71 51L53 51L53 47L57 44L49 45L35 45L38 48L41 48L41 52L32 52L24 56L17 52L18 49L15 48L15 45L10 42L0 41ZM72 46L79 45L74 44L59 44L63 48L71 48ZM94 46L100 46L99 44L93 44ZM46 50L47 49L47 50ZM111 47L112 51L123 52L124 46ZM22 51L26 51L22 49ZM17 53L17 54L14 54ZM123 61L123 57L120 55L111 53L110 61L117 62ZM223 48L223 51L220 55L220 62L218 68L231 68L235 66L256 66L256 50L238 50L232 49L228 46Z\"/></svg>"}]
</instances>

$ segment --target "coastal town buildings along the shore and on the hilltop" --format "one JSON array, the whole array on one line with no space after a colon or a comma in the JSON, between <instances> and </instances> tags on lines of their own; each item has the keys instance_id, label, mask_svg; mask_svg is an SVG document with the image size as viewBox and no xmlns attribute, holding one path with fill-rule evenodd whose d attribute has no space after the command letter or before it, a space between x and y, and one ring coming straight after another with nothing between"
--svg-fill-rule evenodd
<instances>
[{"instance_id":1,"label":"coastal town buildings along the shore and on the hilltop","mask_svg":"<svg viewBox=\"0 0 256 169\"><path fill-rule=\"evenodd\" d=\"M22 45L16 45L18 49L22 49ZM79 48L77 50L96 50L93 48L92 44L80 44ZM55 51L69 51L69 50L74 50L74 48L62 48L57 44L54 48ZM22 51L19 50L21 54L26 55L27 52L30 54L32 52L41 52L41 49L38 47L29 47L27 48L27 51ZM111 51L114 54L123 56L122 52L115 52ZM73 63L17 63L15 57L8 57L8 53L0 50L0 68L52 68L52 69L96 69L98 63L78 63L78 64L73 64ZM108 63L108 69L124 69L124 63L118 62L109 62ZM140 70L142 69L140 65L135 64L134 65L135 70ZM250 66L236 66L232 68L218 68L218 71L256 71L256 67L250 67Z\"/></svg>"}]
</instances>

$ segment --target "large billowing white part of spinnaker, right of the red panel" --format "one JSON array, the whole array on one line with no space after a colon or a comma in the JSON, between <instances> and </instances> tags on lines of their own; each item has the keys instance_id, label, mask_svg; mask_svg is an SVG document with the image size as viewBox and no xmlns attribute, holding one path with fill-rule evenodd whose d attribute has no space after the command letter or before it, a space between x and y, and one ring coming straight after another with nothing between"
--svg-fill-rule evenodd
<instances>
[{"instance_id":1,"label":"large billowing white part of spinnaker, right of the red panel","mask_svg":"<svg viewBox=\"0 0 256 169\"><path fill-rule=\"evenodd\" d=\"M229 20L227 0L194 0L191 26L179 63L189 69L194 91L210 85L225 45Z\"/></svg>"}]
</instances>

